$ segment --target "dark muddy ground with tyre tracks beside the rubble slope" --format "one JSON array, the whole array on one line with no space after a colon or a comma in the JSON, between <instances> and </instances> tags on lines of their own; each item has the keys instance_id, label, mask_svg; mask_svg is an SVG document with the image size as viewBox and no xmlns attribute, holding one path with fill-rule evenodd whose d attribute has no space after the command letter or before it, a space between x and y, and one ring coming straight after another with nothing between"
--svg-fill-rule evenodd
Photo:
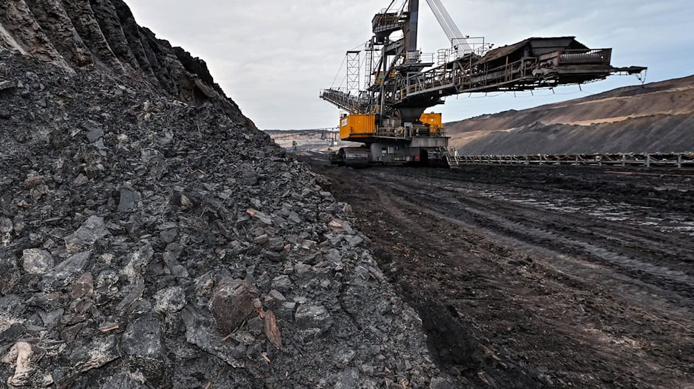
<instances>
[{"instance_id":1,"label":"dark muddy ground with tyre tracks beside the rubble slope","mask_svg":"<svg viewBox=\"0 0 694 389\"><path fill-rule=\"evenodd\" d=\"M470 388L694 388L694 177L315 163Z\"/></svg>"}]
</instances>

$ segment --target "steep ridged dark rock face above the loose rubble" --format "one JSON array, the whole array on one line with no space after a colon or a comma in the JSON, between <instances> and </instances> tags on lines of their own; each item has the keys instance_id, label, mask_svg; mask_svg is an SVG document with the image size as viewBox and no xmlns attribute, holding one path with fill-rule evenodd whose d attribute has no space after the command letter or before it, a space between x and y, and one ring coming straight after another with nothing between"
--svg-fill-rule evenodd
<instances>
[{"instance_id":1,"label":"steep ridged dark rock face above the loose rubble","mask_svg":"<svg viewBox=\"0 0 694 389\"><path fill-rule=\"evenodd\" d=\"M255 128L214 83L205 61L138 26L121 0L2 0L0 47L68 72L105 67L115 77L140 78L159 94L212 101Z\"/></svg>"}]
</instances>

